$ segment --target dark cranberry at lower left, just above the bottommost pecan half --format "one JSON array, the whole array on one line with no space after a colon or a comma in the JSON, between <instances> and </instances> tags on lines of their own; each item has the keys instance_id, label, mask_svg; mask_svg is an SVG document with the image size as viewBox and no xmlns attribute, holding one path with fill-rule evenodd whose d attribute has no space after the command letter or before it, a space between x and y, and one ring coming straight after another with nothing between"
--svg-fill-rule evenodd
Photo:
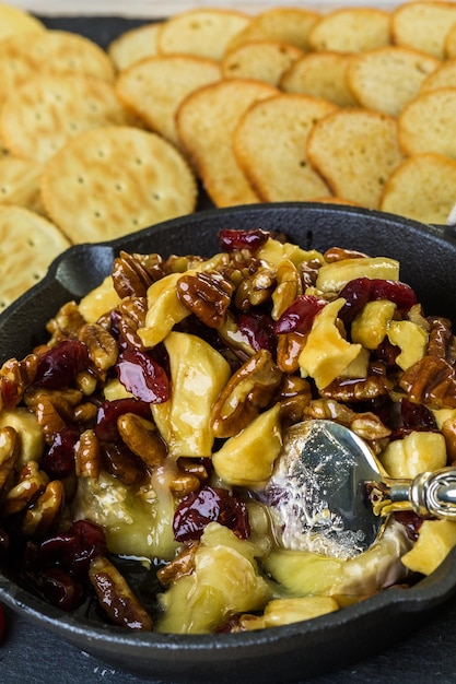
<instances>
[{"instance_id":1,"label":"dark cranberry at lower left, just above the bottommost pecan half","mask_svg":"<svg viewBox=\"0 0 456 684\"><path fill-rule=\"evenodd\" d=\"M57 566L73 577L84 578L91 561L106 553L103 528L90 520L77 520L67 532L28 544L26 564L32 573Z\"/></svg>"}]
</instances>

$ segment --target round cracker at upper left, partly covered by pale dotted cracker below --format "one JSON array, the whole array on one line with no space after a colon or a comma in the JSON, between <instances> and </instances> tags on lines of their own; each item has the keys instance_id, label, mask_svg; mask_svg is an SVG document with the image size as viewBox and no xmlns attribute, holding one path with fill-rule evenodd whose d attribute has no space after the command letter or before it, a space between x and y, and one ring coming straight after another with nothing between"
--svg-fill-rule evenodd
<instances>
[{"instance_id":1,"label":"round cracker at upper left, partly covered by pale dotted cracker below","mask_svg":"<svg viewBox=\"0 0 456 684\"><path fill-rule=\"evenodd\" d=\"M0 42L0 103L37 73L80 73L114 82L114 63L93 40L67 31L14 34Z\"/></svg>"}]
</instances>

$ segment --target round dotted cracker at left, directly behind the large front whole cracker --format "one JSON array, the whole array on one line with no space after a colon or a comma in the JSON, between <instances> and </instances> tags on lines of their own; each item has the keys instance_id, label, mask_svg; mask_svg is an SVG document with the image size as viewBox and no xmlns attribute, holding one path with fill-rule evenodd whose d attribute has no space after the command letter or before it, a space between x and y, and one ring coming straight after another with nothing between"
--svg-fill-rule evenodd
<instances>
[{"instance_id":1,"label":"round dotted cracker at left, directly behind the large front whole cracker","mask_svg":"<svg viewBox=\"0 0 456 684\"><path fill-rule=\"evenodd\" d=\"M71 138L100 126L130 123L114 86L81 74L40 74L0 110L0 134L17 156L45 163Z\"/></svg>"}]
</instances>

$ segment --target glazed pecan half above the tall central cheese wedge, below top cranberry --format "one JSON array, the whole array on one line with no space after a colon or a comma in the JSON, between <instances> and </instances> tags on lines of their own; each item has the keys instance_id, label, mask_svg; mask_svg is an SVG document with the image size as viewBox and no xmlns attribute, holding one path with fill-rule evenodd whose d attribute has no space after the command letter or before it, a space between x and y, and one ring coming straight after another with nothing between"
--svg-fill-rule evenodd
<instances>
[{"instance_id":1,"label":"glazed pecan half above the tall central cheese wedge, below top cranberry","mask_svg":"<svg viewBox=\"0 0 456 684\"><path fill-rule=\"evenodd\" d=\"M209 328L220 328L234 292L233 284L217 271L183 275L177 296Z\"/></svg>"}]
</instances>

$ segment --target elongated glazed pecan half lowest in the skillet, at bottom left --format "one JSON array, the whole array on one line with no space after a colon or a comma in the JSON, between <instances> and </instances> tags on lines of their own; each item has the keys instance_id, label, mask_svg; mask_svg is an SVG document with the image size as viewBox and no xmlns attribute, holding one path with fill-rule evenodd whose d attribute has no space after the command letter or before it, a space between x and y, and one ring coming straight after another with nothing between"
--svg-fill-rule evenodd
<instances>
[{"instance_id":1,"label":"elongated glazed pecan half lowest in the skillet, at bottom left","mask_svg":"<svg viewBox=\"0 0 456 684\"><path fill-rule=\"evenodd\" d=\"M104 556L90 565L89 579L95 589L100 605L114 624L129 629L153 629L152 617L141 605L125 577Z\"/></svg>"}]
</instances>

